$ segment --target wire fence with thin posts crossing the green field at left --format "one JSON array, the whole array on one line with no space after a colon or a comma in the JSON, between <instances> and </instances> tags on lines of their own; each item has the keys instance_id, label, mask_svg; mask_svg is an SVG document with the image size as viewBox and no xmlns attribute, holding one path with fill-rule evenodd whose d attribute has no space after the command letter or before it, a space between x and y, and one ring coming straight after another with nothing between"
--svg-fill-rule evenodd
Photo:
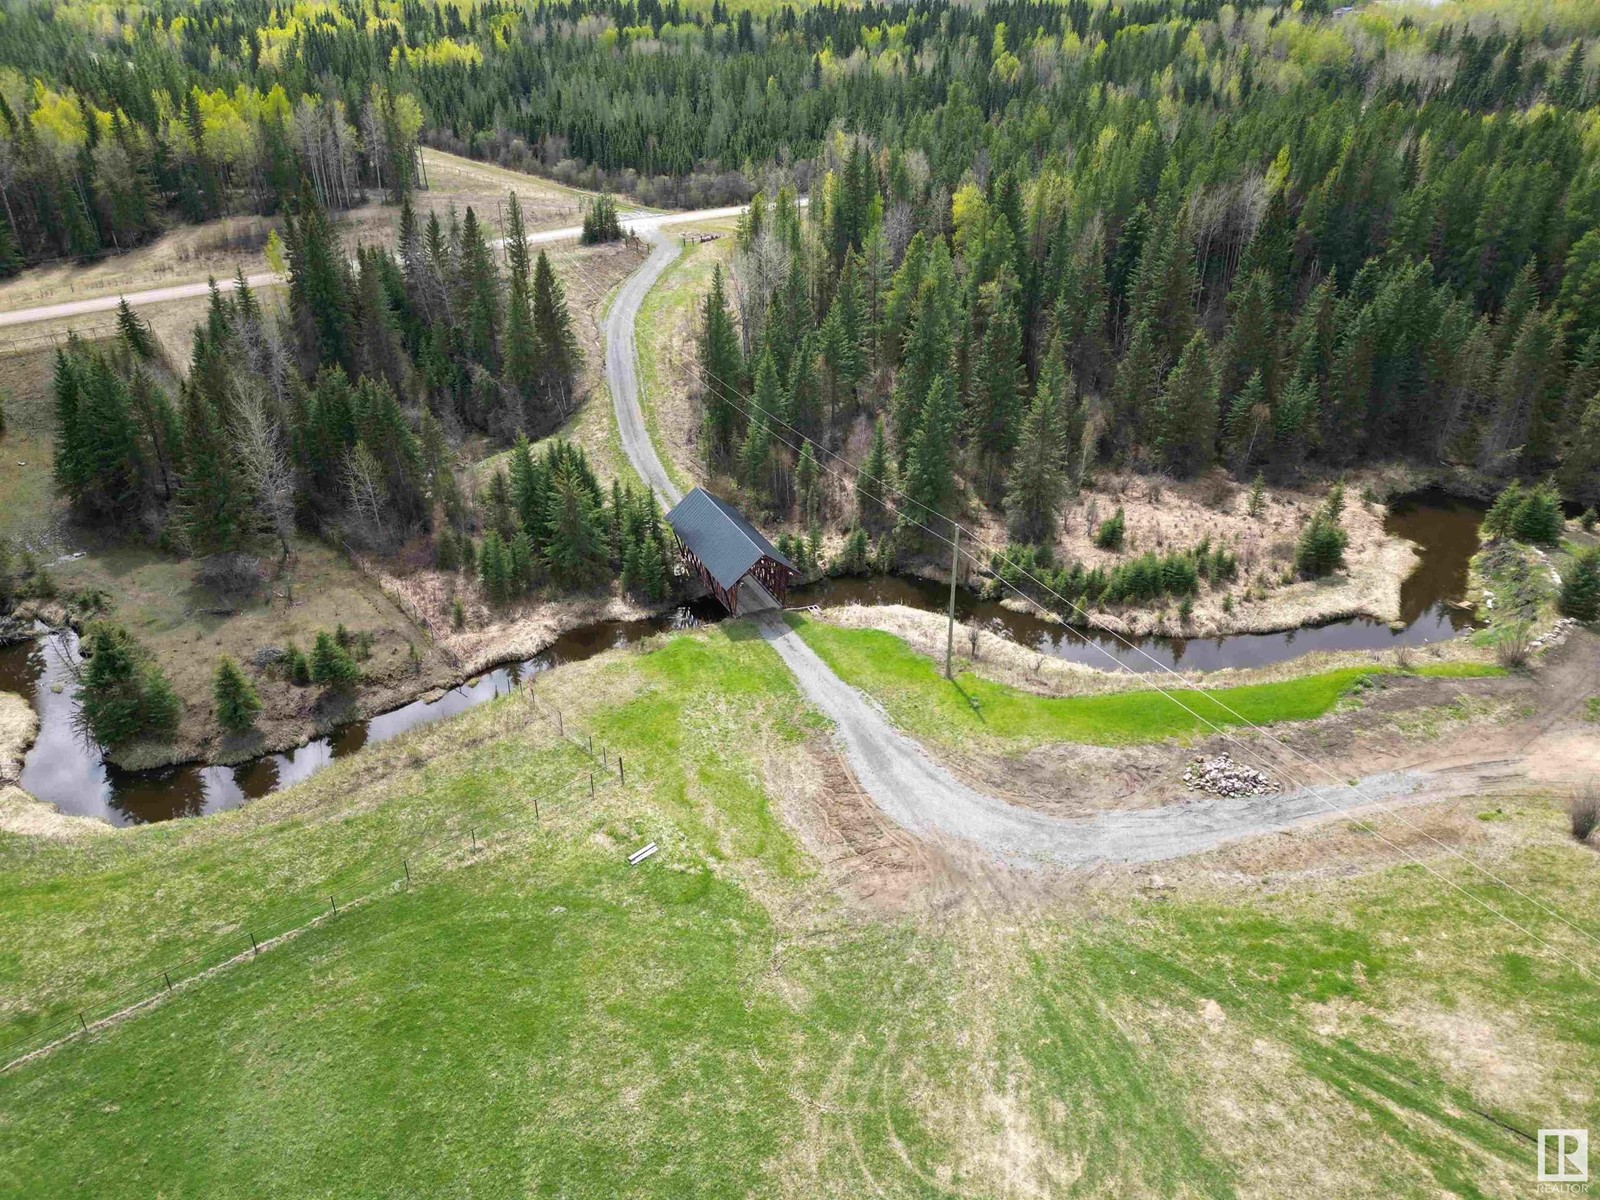
<instances>
[{"instance_id":1,"label":"wire fence with thin posts crossing the green field at left","mask_svg":"<svg viewBox=\"0 0 1600 1200\"><path fill-rule=\"evenodd\" d=\"M509 819L469 822L466 829L456 827L419 838L398 858L379 862L350 878L326 880L309 896L286 907L227 922L230 933L216 938L187 958L165 966L141 968L115 992L72 1006L69 1016L56 1018L0 1043L0 1072L85 1038L99 1027L160 1003L168 995L189 992L224 968L256 958L262 950L336 918L346 909L408 888L424 874L485 861L490 850L526 829L528 816L533 818L534 827L539 827L546 813L568 811L574 803L594 802L602 787L627 782L627 766L619 752L603 742L595 744L592 734L568 726L562 710L539 698L531 683L520 691L528 701L530 720L542 717L554 725L562 742L582 752L589 762L587 770L576 771L555 789L528 795L528 806Z\"/></svg>"}]
</instances>

